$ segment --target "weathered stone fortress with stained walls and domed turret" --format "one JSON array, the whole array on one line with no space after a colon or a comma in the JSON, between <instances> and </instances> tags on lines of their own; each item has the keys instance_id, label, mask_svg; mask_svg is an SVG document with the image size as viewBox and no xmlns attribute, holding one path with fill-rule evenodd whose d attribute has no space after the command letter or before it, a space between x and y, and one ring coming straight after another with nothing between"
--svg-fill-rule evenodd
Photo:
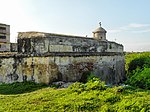
<instances>
[{"instance_id":1,"label":"weathered stone fortress with stained walls and domed turret","mask_svg":"<svg viewBox=\"0 0 150 112\"><path fill-rule=\"evenodd\" d=\"M106 33L101 24L92 38L19 32L17 44L0 53L0 83L74 82L92 72L107 84L118 84L126 77L123 45L108 41Z\"/></svg>"}]
</instances>

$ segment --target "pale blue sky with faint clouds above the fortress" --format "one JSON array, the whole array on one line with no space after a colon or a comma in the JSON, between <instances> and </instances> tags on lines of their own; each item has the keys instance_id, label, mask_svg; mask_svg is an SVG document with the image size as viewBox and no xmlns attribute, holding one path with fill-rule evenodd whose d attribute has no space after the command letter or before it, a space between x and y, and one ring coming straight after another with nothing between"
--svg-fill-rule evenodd
<instances>
[{"instance_id":1,"label":"pale blue sky with faint clouds above the fortress","mask_svg":"<svg viewBox=\"0 0 150 112\"><path fill-rule=\"evenodd\" d=\"M0 0L0 23L17 32L92 37L99 27L125 51L150 51L150 0Z\"/></svg>"}]
</instances>

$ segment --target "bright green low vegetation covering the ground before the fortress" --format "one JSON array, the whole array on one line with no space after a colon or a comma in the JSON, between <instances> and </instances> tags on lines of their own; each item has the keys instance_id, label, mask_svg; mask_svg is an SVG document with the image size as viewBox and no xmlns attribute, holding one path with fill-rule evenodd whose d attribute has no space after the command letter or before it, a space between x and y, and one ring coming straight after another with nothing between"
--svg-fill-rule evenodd
<instances>
[{"instance_id":1,"label":"bright green low vegetation covering the ground before the fortress","mask_svg":"<svg viewBox=\"0 0 150 112\"><path fill-rule=\"evenodd\" d=\"M97 79L93 80L95 81ZM89 88L90 85L87 83L75 83L68 89L47 87L30 93L0 94L0 111L148 112L150 110L150 91L148 90L132 90L121 86L100 90L97 86L96 88L94 86L94 89L93 86ZM17 84L22 85L22 83ZM4 85L7 86L7 84ZM31 85L34 88L33 84ZM76 87L81 89L80 92Z\"/></svg>"}]
</instances>

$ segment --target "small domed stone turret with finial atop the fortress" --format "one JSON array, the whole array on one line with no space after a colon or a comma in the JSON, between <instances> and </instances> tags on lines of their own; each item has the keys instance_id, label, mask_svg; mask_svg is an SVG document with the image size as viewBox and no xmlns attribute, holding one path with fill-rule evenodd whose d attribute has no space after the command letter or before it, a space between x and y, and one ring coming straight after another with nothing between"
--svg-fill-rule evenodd
<instances>
[{"instance_id":1,"label":"small domed stone turret with finial atop the fortress","mask_svg":"<svg viewBox=\"0 0 150 112\"><path fill-rule=\"evenodd\" d=\"M101 27L101 22L99 23L100 27L97 28L94 32L93 32L93 38L94 39L98 39L98 40L102 40L102 41L106 41L106 33L107 31Z\"/></svg>"}]
</instances>

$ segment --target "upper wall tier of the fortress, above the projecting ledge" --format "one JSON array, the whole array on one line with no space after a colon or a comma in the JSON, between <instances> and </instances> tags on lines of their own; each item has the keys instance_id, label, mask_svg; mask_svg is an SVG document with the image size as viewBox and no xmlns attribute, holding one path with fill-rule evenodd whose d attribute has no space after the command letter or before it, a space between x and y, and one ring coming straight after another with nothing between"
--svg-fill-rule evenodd
<instances>
[{"instance_id":1,"label":"upper wall tier of the fortress, above the projecting ledge","mask_svg":"<svg viewBox=\"0 0 150 112\"><path fill-rule=\"evenodd\" d=\"M123 46L110 41L85 37L19 38L18 52L42 54L48 52L122 52Z\"/></svg>"}]
</instances>

